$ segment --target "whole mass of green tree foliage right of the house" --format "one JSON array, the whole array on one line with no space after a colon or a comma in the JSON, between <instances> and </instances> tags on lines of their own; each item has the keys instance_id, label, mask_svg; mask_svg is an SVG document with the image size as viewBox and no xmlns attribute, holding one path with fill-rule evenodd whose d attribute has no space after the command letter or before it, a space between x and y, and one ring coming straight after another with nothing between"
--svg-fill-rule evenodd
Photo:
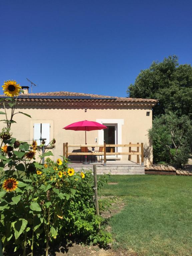
<instances>
[{"instance_id":1,"label":"whole mass of green tree foliage right of the house","mask_svg":"<svg viewBox=\"0 0 192 256\"><path fill-rule=\"evenodd\" d=\"M141 70L127 93L133 98L158 99L153 108L153 160L181 167L191 154L192 67L173 55ZM173 114L174 113L174 114Z\"/></svg>"}]
</instances>

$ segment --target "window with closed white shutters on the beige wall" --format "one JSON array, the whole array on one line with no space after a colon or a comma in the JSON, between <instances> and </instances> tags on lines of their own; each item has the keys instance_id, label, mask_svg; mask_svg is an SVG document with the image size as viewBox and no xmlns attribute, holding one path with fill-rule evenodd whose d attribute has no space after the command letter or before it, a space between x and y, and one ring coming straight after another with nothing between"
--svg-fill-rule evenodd
<instances>
[{"instance_id":1,"label":"window with closed white shutters on the beige wall","mask_svg":"<svg viewBox=\"0 0 192 256\"><path fill-rule=\"evenodd\" d=\"M33 139L37 141L37 145L41 144L40 138L46 138L46 145L50 142L50 124L49 123L34 123Z\"/></svg>"}]
</instances>

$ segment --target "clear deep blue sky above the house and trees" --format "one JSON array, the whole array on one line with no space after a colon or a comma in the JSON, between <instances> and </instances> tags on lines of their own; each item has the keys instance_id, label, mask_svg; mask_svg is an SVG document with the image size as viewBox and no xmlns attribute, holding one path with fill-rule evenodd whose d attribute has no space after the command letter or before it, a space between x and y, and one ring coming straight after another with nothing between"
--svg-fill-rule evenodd
<instances>
[{"instance_id":1,"label":"clear deep blue sky above the house and trees","mask_svg":"<svg viewBox=\"0 0 192 256\"><path fill-rule=\"evenodd\" d=\"M126 97L141 69L192 64L192 1L0 0L0 81Z\"/></svg>"}]
</instances>

